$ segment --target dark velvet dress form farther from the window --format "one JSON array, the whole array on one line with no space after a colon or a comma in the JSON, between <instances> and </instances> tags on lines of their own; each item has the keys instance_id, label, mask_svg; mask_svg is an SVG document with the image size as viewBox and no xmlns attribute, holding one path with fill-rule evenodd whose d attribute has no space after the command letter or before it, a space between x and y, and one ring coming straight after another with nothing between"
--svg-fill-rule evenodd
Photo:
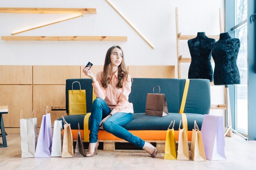
<instances>
[{"instance_id":1,"label":"dark velvet dress form farther from the window","mask_svg":"<svg viewBox=\"0 0 256 170\"><path fill-rule=\"evenodd\" d=\"M189 66L189 78L204 78L213 81L211 67L211 49L215 39L208 38L204 32L198 32L197 37L189 39L189 52L191 64Z\"/></svg>"}]
</instances>

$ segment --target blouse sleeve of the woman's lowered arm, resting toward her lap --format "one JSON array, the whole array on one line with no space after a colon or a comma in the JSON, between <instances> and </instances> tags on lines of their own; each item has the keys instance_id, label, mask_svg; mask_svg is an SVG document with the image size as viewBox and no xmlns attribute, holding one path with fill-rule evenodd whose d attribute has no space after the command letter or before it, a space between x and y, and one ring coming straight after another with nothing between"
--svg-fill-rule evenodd
<instances>
[{"instance_id":1,"label":"blouse sleeve of the woman's lowered arm, resting toward her lap","mask_svg":"<svg viewBox=\"0 0 256 170\"><path fill-rule=\"evenodd\" d=\"M123 92L119 96L117 105L110 112L111 115L121 111L122 109L124 109L124 107L126 107L126 105L129 104L128 97L131 92L131 87L132 87L132 81L131 81L130 74L128 74L127 80L124 81Z\"/></svg>"}]
</instances>

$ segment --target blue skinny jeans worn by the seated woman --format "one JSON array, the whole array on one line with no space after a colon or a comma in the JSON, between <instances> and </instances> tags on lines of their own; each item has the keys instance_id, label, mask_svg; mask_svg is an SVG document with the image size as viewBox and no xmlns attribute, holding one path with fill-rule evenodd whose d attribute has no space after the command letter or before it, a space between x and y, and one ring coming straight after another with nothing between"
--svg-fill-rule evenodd
<instances>
[{"instance_id":1,"label":"blue skinny jeans worn by the seated woman","mask_svg":"<svg viewBox=\"0 0 256 170\"><path fill-rule=\"evenodd\" d=\"M96 98L92 105L92 112L90 118L90 135L89 142L95 143L98 140L99 124L102 119L106 118L111 112L110 108L102 98ZM112 133L116 137L124 139L139 148L142 148L145 141L139 137L132 135L129 131L124 129L126 123L132 120L132 113L118 112L110 116L104 123L103 129L108 133Z\"/></svg>"}]
</instances>

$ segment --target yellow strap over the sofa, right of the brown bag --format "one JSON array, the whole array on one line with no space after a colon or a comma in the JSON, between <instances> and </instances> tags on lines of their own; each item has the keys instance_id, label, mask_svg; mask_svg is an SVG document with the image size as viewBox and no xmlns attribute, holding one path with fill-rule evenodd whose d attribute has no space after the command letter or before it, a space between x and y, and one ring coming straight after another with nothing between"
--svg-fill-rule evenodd
<instances>
[{"instance_id":1,"label":"yellow strap over the sofa, right of the brown bag","mask_svg":"<svg viewBox=\"0 0 256 170\"><path fill-rule=\"evenodd\" d=\"M184 108L186 104L186 96L189 91L189 79L186 79L185 87L184 87L184 92L182 96L182 101L181 101L181 106L180 106L180 114L182 117L182 128L186 130L186 136L188 137L188 121L186 119L186 114L184 113Z\"/></svg>"}]
</instances>

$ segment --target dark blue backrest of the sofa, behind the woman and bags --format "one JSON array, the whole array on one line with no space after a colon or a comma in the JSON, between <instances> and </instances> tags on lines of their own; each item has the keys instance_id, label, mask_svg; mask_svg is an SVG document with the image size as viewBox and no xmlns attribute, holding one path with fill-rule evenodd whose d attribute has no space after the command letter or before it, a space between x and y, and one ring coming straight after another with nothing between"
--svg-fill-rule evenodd
<instances>
[{"instance_id":1,"label":"dark blue backrest of the sofa, behind the woman and bags","mask_svg":"<svg viewBox=\"0 0 256 170\"><path fill-rule=\"evenodd\" d=\"M92 110L92 80L66 80L66 111L68 113L68 90L72 83L79 81L81 89L86 91L87 112ZM133 78L129 102L132 102L134 113L145 113L147 93L153 93L154 85L159 85L161 94L165 94L169 113L179 113L186 79L176 78ZM79 84L74 83L74 89ZM158 93L158 88L155 88ZM210 83L208 79L190 79L184 113L208 114L211 107Z\"/></svg>"}]
</instances>

